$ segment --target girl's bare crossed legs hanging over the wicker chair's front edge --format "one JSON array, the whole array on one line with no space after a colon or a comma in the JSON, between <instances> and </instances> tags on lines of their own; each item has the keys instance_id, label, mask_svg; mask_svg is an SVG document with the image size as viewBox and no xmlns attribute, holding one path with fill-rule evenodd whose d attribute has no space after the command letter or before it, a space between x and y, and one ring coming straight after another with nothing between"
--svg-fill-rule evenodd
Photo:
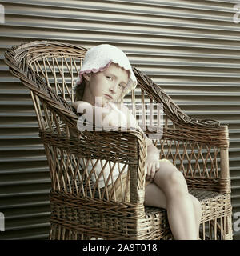
<instances>
[{"instance_id":1,"label":"girl's bare crossed legs hanging over the wicker chair's front edge","mask_svg":"<svg viewBox=\"0 0 240 256\"><path fill-rule=\"evenodd\" d=\"M175 239L198 239L201 205L188 193L185 178L169 162L161 162L154 182L146 186L145 204L167 210Z\"/></svg>"}]
</instances>

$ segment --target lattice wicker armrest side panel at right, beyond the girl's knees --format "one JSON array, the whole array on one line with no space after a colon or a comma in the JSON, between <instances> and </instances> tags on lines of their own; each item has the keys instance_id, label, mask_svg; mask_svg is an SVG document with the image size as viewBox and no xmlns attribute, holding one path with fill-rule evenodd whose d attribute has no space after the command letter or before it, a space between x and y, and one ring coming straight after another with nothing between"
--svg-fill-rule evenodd
<instances>
[{"instance_id":1,"label":"lattice wicker armrest side panel at right, beyond the girl's knees","mask_svg":"<svg viewBox=\"0 0 240 256\"><path fill-rule=\"evenodd\" d=\"M230 194L228 126L166 127L159 142L160 158L170 158L190 187Z\"/></svg>"}]
</instances>

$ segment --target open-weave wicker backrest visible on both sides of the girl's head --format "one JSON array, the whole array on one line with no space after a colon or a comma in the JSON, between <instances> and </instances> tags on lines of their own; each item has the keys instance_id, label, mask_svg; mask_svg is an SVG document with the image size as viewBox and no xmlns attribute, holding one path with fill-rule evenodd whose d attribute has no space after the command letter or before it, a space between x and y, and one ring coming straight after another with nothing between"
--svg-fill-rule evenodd
<instances>
[{"instance_id":1,"label":"open-weave wicker backrest visible on both sides of the girl's head","mask_svg":"<svg viewBox=\"0 0 240 256\"><path fill-rule=\"evenodd\" d=\"M82 59L87 49L61 42L44 41L32 42L23 46L24 48L18 48L18 54L20 54L21 58L25 57L26 64L30 66L35 74L42 78L44 82L42 86L47 85L56 95L61 96L58 100L62 101L63 98L66 102L74 102L75 80L78 78ZM134 72L138 77L141 77L141 72L136 69L134 69ZM46 88L42 89L46 90ZM153 95L146 94L146 91L146 82L139 83L135 90L126 95L123 103L129 107L138 123L140 123L142 130L147 133L150 130L157 130L157 127L160 130L165 117L163 117L163 106L154 102ZM35 101L38 102L38 99ZM50 115L50 113L48 114ZM159 117L162 119L159 119ZM49 116L48 120L43 122L46 119L44 115L38 116L38 119L39 123L42 122L42 129L44 129L46 123L48 123L47 127L49 128L49 121L53 120ZM159 135L161 136L161 134Z\"/></svg>"}]
</instances>

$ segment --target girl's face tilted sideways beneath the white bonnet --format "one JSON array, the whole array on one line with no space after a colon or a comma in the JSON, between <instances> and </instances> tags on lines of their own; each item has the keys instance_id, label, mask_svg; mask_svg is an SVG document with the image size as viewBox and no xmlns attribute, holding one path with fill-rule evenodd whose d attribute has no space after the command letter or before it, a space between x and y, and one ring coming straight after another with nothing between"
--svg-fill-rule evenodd
<instances>
[{"instance_id":1,"label":"girl's face tilted sideways beneath the white bonnet","mask_svg":"<svg viewBox=\"0 0 240 256\"><path fill-rule=\"evenodd\" d=\"M97 106L118 101L129 79L128 72L114 63L104 71L83 74L83 76L87 82L82 100Z\"/></svg>"}]
</instances>

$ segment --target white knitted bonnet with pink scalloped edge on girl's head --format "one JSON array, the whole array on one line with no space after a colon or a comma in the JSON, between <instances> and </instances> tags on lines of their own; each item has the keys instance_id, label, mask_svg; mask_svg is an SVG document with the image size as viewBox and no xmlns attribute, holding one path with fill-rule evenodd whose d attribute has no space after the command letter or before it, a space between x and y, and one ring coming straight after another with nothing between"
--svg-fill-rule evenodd
<instances>
[{"instance_id":1,"label":"white knitted bonnet with pink scalloped edge on girl's head","mask_svg":"<svg viewBox=\"0 0 240 256\"><path fill-rule=\"evenodd\" d=\"M97 73L98 71L106 70L111 63L118 64L124 70L129 70L130 74L126 88L122 91L122 95L119 99L120 102L130 90L133 90L137 86L137 79L126 54L116 46L102 44L87 50L78 80L76 81L76 86L82 83L82 74L89 74L91 72Z\"/></svg>"}]
</instances>

